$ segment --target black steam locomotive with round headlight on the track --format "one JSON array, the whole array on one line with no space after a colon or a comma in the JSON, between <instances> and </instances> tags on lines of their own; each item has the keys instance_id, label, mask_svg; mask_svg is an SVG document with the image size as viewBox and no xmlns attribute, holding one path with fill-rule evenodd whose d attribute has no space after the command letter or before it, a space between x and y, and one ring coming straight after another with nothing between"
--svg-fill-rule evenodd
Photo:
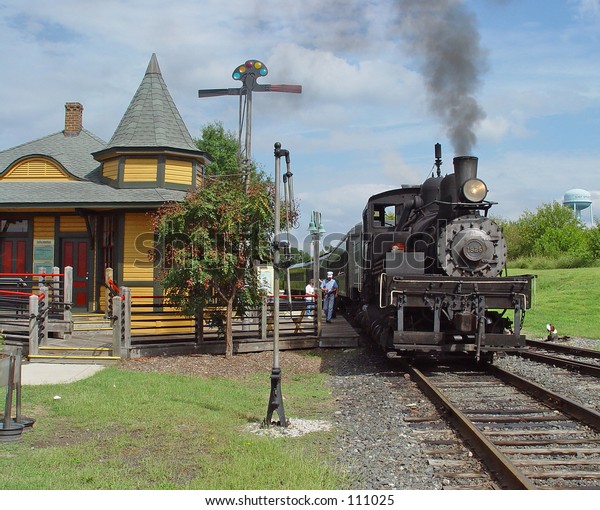
<instances>
[{"instance_id":1,"label":"black steam locomotive with round headlight on the track","mask_svg":"<svg viewBox=\"0 0 600 510\"><path fill-rule=\"evenodd\" d=\"M475 357L524 348L533 275L502 276L506 241L478 158L455 157L421 185L372 196L362 222L325 257L342 302L388 357ZM434 175L436 174L436 175Z\"/></svg>"}]
</instances>

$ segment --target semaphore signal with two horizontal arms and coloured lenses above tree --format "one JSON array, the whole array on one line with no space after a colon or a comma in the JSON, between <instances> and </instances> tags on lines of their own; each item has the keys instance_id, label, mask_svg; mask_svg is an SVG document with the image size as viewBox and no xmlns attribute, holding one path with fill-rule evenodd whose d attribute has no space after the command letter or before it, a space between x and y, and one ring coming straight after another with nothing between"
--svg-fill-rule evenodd
<instances>
[{"instance_id":1,"label":"semaphore signal with two horizontal arms and coloured lenses above tree","mask_svg":"<svg viewBox=\"0 0 600 510\"><path fill-rule=\"evenodd\" d=\"M258 78L264 77L269 73L267 66L259 60L246 60L233 70L231 77L234 80L242 82L240 88L234 89L203 89L198 91L198 97L216 97L216 96L240 96L240 125L239 138L242 138L242 129L245 118L246 137L243 152L244 183L246 191L250 185L250 169L252 165L252 92L287 92L292 94L301 94L302 85L267 85L256 83ZM242 96L246 97L244 116L241 116Z\"/></svg>"}]
</instances>

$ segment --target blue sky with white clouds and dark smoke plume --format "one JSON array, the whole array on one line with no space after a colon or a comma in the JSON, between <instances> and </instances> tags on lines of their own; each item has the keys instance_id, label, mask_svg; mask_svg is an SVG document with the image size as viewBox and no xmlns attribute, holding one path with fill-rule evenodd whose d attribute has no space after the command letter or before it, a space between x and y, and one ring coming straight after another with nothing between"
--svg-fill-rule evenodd
<instances>
[{"instance_id":1,"label":"blue sky with white clouds and dark smoke plume","mask_svg":"<svg viewBox=\"0 0 600 510\"><path fill-rule=\"evenodd\" d=\"M442 174L479 158L494 216L573 188L600 215L600 0L0 0L0 44L0 150L61 131L72 101L110 140L153 53L194 138L237 134L239 98L198 90L238 88L249 59L301 85L254 93L251 119L266 173L290 152L301 247L311 211L331 243L369 196L420 184L437 142Z\"/></svg>"}]
</instances>

